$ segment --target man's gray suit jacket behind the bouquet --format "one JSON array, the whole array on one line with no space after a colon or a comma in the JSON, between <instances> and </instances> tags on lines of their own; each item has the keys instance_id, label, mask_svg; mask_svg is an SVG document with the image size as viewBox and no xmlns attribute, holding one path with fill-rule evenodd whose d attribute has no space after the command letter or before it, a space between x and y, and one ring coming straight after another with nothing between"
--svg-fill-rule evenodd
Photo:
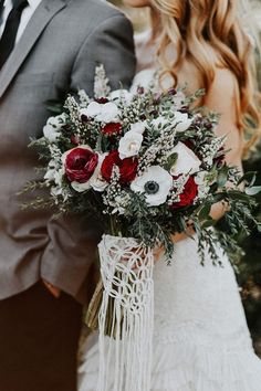
<instances>
[{"instance_id":1,"label":"man's gray suit jacket behind the bouquet","mask_svg":"<svg viewBox=\"0 0 261 391\"><path fill-rule=\"evenodd\" d=\"M98 230L91 221L52 219L51 211L21 210L35 196L18 197L35 178L40 137L50 113L44 102L67 92L92 94L96 64L113 87L128 86L135 73L129 21L101 0L42 0L0 71L0 299L41 277L81 302L94 261Z\"/></svg>"}]
</instances>

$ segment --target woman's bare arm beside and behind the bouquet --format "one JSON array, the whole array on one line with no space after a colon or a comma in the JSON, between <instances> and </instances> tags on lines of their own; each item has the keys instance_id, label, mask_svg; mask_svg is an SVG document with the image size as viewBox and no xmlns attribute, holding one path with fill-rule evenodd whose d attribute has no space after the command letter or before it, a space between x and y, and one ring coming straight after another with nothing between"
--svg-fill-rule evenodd
<instances>
[{"instance_id":1,"label":"woman's bare arm beside and behind the bouquet","mask_svg":"<svg viewBox=\"0 0 261 391\"><path fill-rule=\"evenodd\" d=\"M217 136L227 136L226 160L232 166L237 166L242 171L242 148L243 148L243 137L242 133L239 130L238 126L238 84L232 72L226 68L219 68L216 72L213 83L205 98L205 105L216 112L220 113L220 121L217 127ZM211 218L219 220L223 216L227 211L227 205L223 203L217 203L211 209ZM194 230L191 226L188 228L187 232L178 233L173 235L174 242L179 242L191 235Z\"/></svg>"}]
</instances>

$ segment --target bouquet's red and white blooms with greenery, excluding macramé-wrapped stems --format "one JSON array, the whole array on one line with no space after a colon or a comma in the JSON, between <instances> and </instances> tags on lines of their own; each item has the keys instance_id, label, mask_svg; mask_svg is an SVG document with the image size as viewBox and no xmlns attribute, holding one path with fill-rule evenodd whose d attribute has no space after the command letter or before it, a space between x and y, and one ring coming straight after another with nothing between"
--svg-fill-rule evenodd
<instances>
[{"instance_id":1,"label":"bouquet's red and white blooms with greenery, excluding macram\u00e9-wrapped stems","mask_svg":"<svg viewBox=\"0 0 261 391\"><path fill-rule=\"evenodd\" d=\"M25 189L48 187L49 202L60 212L96 213L105 232L133 236L145 247L160 245L168 262L171 233L194 224L202 262L206 245L218 262L211 244L219 233L208 229L216 223L211 205L229 204L231 231L247 230L251 196L260 189L253 180L239 188L251 175L241 178L225 162L225 138L215 136L218 115L190 108L203 92L186 97L174 88L157 93L153 85L134 94L111 92L103 66L94 91L94 98L83 91L69 96L64 112L32 140L46 167L43 180ZM41 207L41 200L31 205ZM230 236L222 244L236 245Z\"/></svg>"}]
</instances>

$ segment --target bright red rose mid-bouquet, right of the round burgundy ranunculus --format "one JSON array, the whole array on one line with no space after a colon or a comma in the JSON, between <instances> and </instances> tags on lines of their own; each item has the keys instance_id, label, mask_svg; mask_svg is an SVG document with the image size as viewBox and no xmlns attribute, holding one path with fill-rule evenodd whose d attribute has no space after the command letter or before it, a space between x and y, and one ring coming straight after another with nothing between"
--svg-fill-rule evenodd
<instances>
[{"instance_id":1,"label":"bright red rose mid-bouquet, right of the round burgundy ranunculus","mask_svg":"<svg viewBox=\"0 0 261 391\"><path fill-rule=\"evenodd\" d=\"M113 166L117 166L119 168L119 181L122 183L128 183L136 177L138 160L136 158L121 159L117 150L109 152L103 160L101 167L102 176L107 182L111 180Z\"/></svg>"}]
</instances>

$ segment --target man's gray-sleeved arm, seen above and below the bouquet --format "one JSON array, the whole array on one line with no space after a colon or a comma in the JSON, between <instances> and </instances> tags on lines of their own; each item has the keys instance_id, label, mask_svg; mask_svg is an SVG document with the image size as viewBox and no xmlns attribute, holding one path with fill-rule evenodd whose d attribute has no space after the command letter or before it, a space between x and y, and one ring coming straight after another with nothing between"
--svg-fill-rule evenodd
<instances>
[{"instance_id":1,"label":"man's gray-sleeved arm, seen above and below the bouquet","mask_svg":"<svg viewBox=\"0 0 261 391\"><path fill-rule=\"evenodd\" d=\"M83 88L92 95L98 64L104 64L112 88L118 88L121 84L127 88L132 84L136 70L133 28L119 12L107 18L85 38L72 68L71 91ZM97 243L95 223L87 224L75 216L51 219L48 224L50 243L42 256L41 275L54 296L59 296L60 289L53 285L75 296L94 261ZM62 263L53 262L55 258Z\"/></svg>"}]
</instances>

